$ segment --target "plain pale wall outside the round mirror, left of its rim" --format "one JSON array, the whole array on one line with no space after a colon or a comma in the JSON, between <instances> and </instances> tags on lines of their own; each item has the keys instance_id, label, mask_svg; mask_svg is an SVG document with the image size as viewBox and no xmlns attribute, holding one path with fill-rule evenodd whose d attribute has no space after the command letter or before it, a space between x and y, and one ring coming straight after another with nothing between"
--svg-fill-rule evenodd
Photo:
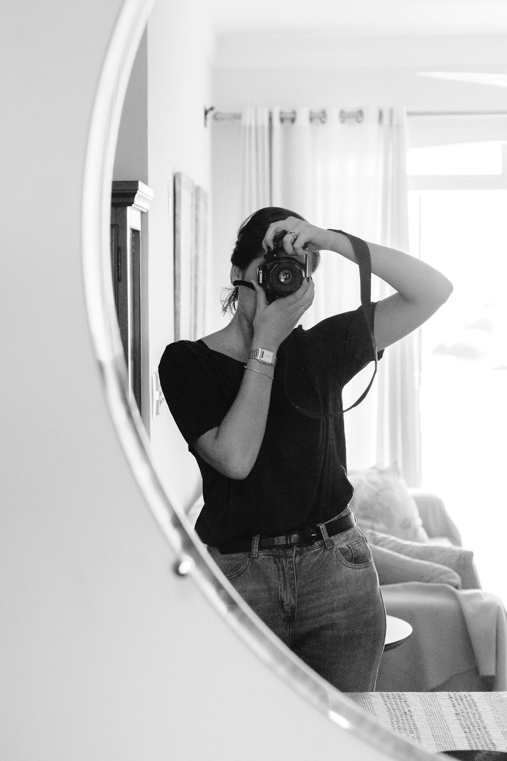
<instances>
[{"instance_id":1,"label":"plain pale wall outside the round mirror, left of its rim","mask_svg":"<svg viewBox=\"0 0 507 761\"><path fill-rule=\"evenodd\" d=\"M248 738L261 737L265 759L378 759L170 572L113 431L84 307L81 187L119 7L2 7L0 757L236 761L258 759ZM152 180L162 205L162 172L205 179L173 150ZM170 332L168 315L157 341Z\"/></svg>"}]
</instances>

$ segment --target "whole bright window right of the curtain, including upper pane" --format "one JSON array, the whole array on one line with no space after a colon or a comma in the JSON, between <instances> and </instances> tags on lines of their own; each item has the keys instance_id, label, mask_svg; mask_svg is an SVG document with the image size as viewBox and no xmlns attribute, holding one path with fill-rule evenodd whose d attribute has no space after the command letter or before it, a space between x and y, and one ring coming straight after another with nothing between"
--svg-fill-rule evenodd
<instances>
[{"instance_id":1,"label":"whole bright window right of the curtain, including upper pane","mask_svg":"<svg viewBox=\"0 0 507 761\"><path fill-rule=\"evenodd\" d=\"M507 457L502 157L500 141L421 146L407 154L410 251L455 287L421 330L423 488L442 496L464 546L475 552L483 587L505 601L507 582L496 565L507 529L501 475Z\"/></svg>"}]
</instances>

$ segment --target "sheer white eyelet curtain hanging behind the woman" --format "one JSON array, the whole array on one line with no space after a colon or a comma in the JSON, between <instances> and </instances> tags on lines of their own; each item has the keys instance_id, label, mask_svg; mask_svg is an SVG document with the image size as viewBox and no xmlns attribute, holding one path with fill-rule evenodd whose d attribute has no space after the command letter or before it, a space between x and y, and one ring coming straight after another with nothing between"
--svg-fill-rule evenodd
<instances>
[{"instance_id":1,"label":"sheer white eyelet curtain hanging behind the woman","mask_svg":"<svg viewBox=\"0 0 507 761\"><path fill-rule=\"evenodd\" d=\"M322 123L310 119L309 108L299 107L293 122L280 123L280 109L274 108L270 131L267 109L247 110L242 118L244 216L263 205L284 206L320 227L407 250L404 113L376 107L361 111L358 120L347 118L350 109L328 107ZM266 178L271 193L265 191ZM314 279L316 296L305 327L360 304L358 269L343 257L323 253ZM373 278L373 300L388 291ZM390 347L366 400L345 414L350 469L397 460L407 482L419 484L418 362L417 336ZM371 374L372 365L351 381L345 403L360 396Z\"/></svg>"}]
</instances>

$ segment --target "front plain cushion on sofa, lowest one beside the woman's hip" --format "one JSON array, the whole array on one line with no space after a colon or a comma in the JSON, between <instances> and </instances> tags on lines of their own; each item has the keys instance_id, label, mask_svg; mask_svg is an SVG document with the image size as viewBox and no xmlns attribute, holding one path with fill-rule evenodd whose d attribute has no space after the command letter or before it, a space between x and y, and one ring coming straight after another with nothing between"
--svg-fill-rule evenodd
<instances>
[{"instance_id":1,"label":"front plain cushion on sofa, lowest one beside the woman's hip","mask_svg":"<svg viewBox=\"0 0 507 761\"><path fill-rule=\"evenodd\" d=\"M371 543L369 547L382 585L422 581L426 584L450 584L455 589L461 589L461 578L445 565L409 558Z\"/></svg>"}]
</instances>

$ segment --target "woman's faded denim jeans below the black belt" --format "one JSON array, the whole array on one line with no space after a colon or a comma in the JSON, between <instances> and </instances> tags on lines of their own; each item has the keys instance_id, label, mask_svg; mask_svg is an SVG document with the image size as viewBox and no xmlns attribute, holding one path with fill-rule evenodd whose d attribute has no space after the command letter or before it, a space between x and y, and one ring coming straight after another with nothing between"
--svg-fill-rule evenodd
<instances>
[{"instance_id":1,"label":"woman's faded denim jeans below the black belt","mask_svg":"<svg viewBox=\"0 0 507 761\"><path fill-rule=\"evenodd\" d=\"M347 514L346 508L342 514ZM211 557L233 587L299 658L342 692L371 692L385 640L385 608L372 553L353 526L310 546Z\"/></svg>"}]
</instances>

